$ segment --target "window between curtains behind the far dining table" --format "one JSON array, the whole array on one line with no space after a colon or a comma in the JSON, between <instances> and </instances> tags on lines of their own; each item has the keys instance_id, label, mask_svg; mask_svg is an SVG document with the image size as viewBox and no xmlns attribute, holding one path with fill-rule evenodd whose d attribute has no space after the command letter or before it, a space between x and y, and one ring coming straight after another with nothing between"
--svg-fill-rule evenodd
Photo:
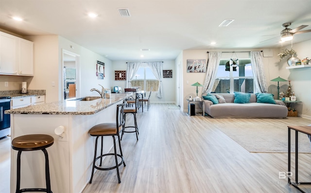
<instances>
[{"instance_id":1,"label":"window between curtains behind the far dining table","mask_svg":"<svg viewBox=\"0 0 311 193\"><path fill-rule=\"evenodd\" d=\"M131 81L132 87L138 87L142 91L156 92L159 86L159 81L156 80L154 73L148 66L141 66L136 72L135 78Z\"/></svg>"}]
</instances>

